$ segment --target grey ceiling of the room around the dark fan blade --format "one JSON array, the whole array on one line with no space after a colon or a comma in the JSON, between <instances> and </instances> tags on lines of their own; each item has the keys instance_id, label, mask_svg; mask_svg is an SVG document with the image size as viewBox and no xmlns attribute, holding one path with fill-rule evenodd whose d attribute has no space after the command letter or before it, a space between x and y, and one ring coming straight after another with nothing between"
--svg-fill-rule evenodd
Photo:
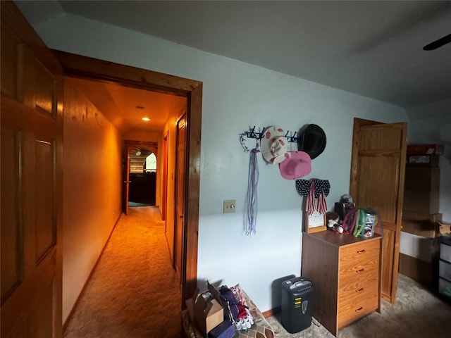
<instances>
[{"instance_id":1,"label":"grey ceiling of the room around the dark fan blade","mask_svg":"<svg viewBox=\"0 0 451 338\"><path fill-rule=\"evenodd\" d=\"M451 44L422 49L451 1L15 2L35 27L80 15L404 108L451 98Z\"/></svg>"}]
</instances>

